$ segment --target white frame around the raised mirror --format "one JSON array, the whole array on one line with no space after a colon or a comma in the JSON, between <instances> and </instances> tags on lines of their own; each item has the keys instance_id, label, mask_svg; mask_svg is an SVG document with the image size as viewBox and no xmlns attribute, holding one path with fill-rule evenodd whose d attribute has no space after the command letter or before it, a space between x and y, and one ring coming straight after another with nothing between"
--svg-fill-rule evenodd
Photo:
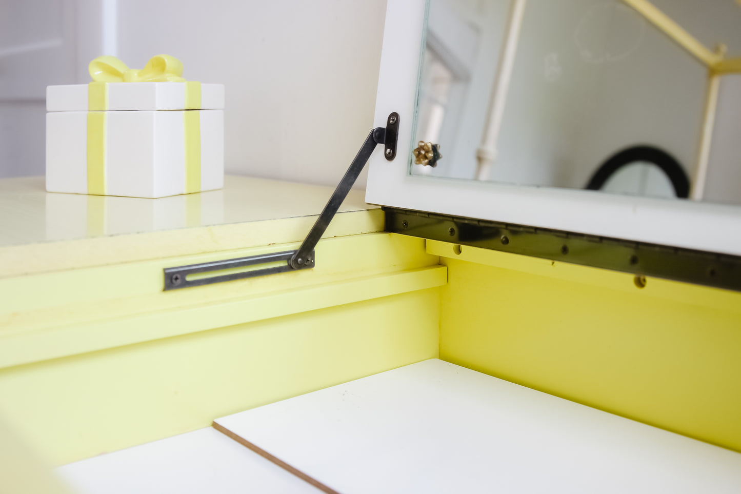
<instances>
[{"instance_id":1,"label":"white frame around the raised mirror","mask_svg":"<svg viewBox=\"0 0 741 494\"><path fill-rule=\"evenodd\" d=\"M425 0L388 1L374 127L398 112L399 142L392 162L373 153L368 203L741 255L737 206L408 174L425 24Z\"/></svg>"}]
</instances>

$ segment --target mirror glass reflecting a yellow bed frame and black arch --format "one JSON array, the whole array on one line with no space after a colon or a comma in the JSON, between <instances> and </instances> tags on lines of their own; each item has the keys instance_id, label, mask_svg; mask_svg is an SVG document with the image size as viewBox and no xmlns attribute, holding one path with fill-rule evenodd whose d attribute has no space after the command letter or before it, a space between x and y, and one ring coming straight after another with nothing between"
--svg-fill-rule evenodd
<instances>
[{"instance_id":1,"label":"mirror glass reflecting a yellow bed frame and black arch","mask_svg":"<svg viewBox=\"0 0 741 494\"><path fill-rule=\"evenodd\" d=\"M737 1L430 0L425 40L411 174L741 204Z\"/></svg>"}]
</instances>

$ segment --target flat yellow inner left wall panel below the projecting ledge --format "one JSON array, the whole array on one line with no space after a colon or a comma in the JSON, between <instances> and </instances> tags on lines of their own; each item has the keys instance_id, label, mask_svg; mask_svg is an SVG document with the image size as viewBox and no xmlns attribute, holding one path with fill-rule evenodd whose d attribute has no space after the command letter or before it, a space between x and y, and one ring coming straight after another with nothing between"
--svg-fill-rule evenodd
<instances>
[{"instance_id":1,"label":"flat yellow inner left wall panel below the projecting ledge","mask_svg":"<svg viewBox=\"0 0 741 494\"><path fill-rule=\"evenodd\" d=\"M438 308L428 289L16 366L0 412L64 464L436 357Z\"/></svg>"}]
</instances>

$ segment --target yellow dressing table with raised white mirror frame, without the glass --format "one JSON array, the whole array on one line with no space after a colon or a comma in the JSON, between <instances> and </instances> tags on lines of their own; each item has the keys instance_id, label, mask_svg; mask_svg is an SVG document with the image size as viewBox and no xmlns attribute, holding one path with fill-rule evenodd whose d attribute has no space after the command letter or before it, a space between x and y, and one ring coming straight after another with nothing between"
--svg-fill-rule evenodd
<instances>
[{"instance_id":1,"label":"yellow dressing table with raised white mirror frame, without the glass","mask_svg":"<svg viewBox=\"0 0 741 494\"><path fill-rule=\"evenodd\" d=\"M210 451L207 441L222 441L223 436L229 438L228 448L257 444L253 450L325 492L353 492L353 478L362 475L377 478L359 482L356 492L413 492L425 484L425 475L438 481L425 484L426 489L445 487L443 478L456 481L459 470L453 467L442 475L440 465L420 466L410 459L428 460L422 448L439 441L425 446L420 435L417 446L413 441L379 446L364 438L361 428L343 429L337 421L330 427L328 418L351 421L356 420L353 410L371 410L363 420L382 416L387 421L383 424L388 427L376 431L379 437L391 430L405 438L413 429L408 424L421 423L422 432L417 432L445 438L441 451L459 448L456 458L487 459L498 452L496 458L505 461L511 444L505 435L488 435L501 432L496 418L491 424L488 420L499 417L501 425L505 418L514 421L524 414L537 424L528 444L545 452L520 458L534 462L534 476L547 470L543 466L549 461L559 464L559 456L592 454L588 448L575 453L555 447L555 442L539 444L538 438L552 432L543 424L552 420L559 430L579 430L582 424L585 437L597 437L591 443L597 449L604 432L602 442L617 444L615 451L621 452L612 460L628 469L622 470L625 485L632 485L633 470L629 462L627 467L621 462L630 459L631 447L641 447L644 437L648 453L699 451L678 457L676 463L676 458L647 453L639 458L643 467L648 464L645 472L633 466L646 478L676 475L681 484L682 475L697 474L691 479L699 481L708 474L717 481L712 486L717 492L734 492L741 485L734 484L741 475L735 470L741 465L741 294L738 287L732 289L740 277L734 269L741 252L734 244L738 232L728 228L739 225L739 214L731 207L682 204L677 208L685 217L711 219L708 233L699 240L697 235L667 237L665 230L676 233L670 227L677 209L659 200L536 188L523 196L502 185L411 177L405 159L411 156L418 74L400 67L419 57L422 36L417 35L423 30L424 11L424 1L388 6L385 49L399 43L400 33L416 39L401 56L385 54L382 61L376 124L382 127L391 112L399 112L398 157L387 161L382 150L375 151L365 200L388 207L382 211L366 205L362 192L350 192L316 246L312 269L163 290L163 269L298 248L330 188L227 177L222 191L144 200L47 194L41 178L0 181L0 208L7 213L0 218L0 414L23 441L55 466L82 465L102 453L194 434L216 421L215 428L197 432L203 437L194 439L199 447L193 447L193 455ZM416 19L411 27L408 19ZM480 208L477 197L491 197L492 191L500 193L494 194L498 199ZM468 194L468 200L442 200L445 194ZM527 201L531 209L523 205ZM565 212L548 217L549 204ZM594 208L612 211L617 218L624 218L624 211L643 212L615 233L607 222L590 220ZM472 210L477 212L468 212ZM666 221L654 228L641 226L650 227L657 219ZM714 222L723 228L711 231ZM705 233L703 225L697 228ZM562 240L553 243L553 251L537 251L537 246L551 244L531 242L528 235ZM531 249L529 255L522 245ZM614 269L607 269L604 260L588 266L584 254L603 248L627 249L614 252L630 255L610 261L616 263ZM657 261L632 261L643 254ZM701 263L702 279L697 272L676 269ZM717 266L716 274L708 273L708 266ZM379 374L400 367L408 370ZM348 383L367 376L371 381ZM445 385L425 387L430 379ZM537 395L533 398L525 388L500 380L547 395L528 390ZM342 383L348 387L312 393ZM405 392L399 391L399 383L408 384ZM471 394L461 391L465 389ZM501 392L496 396L511 399L506 402L510 415L496 415L506 405L484 405L483 392ZM306 393L312 394L276 403ZM476 401L476 396L482 399ZM576 405L555 397L619 417L604 414L593 420L593 412L602 412L591 409L582 417L570 408ZM403 408L417 398L429 404L428 413ZM453 404L450 409L437 405L445 401ZM273 404L265 408L268 412L257 408L267 404ZM392 412L383 415L373 406ZM471 417L466 410L481 415ZM232 414L237 415L227 417ZM401 422L394 424L394 417ZM471 421L471 437L480 441L450 432L441 417L451 423ZM357 420L353 424L363 424ZM518 427L526 430L527 422ZM216 429L222 439L210 436ZM618 439L625 434L625 444L610 431ZM522 441L518 434L509 441ZM690 440L679 435L699 441L688 446ZM324 447L321 441L326 441ZM271 447L260 444L275 444L275 449L270 452ZM362 444L368 455L353 456L353 444ZM209 447L222 447L215 445ZM160 452L152 448L142 465L156 464L153 458L175 450L189 451L186 443ZM342 448L348 452L335 454ZM393 457L399 450L398 458ZM595 454L610 460L599 456L604 453ZM396 460L385 467L408 461L408 468L391 474L377 470L384 464L379 467L374 458L385 454ZM342 464L343 457L358 461L357 470ZM682 463L693 458L708 463ZM181 459L187 465L187 458ZM239 461L234 460L233 469L239 470ZM667 463L653 468L652 461ZM329 467L322 470L317 463ZM333 464L342 465L342 472L333 472ZM710 467L693 472L693 464ZM569 465L567 461L565 470L548 471L544 484L523 482L519 487L525 492L538 485L594 492L590 482L595 479L588 470L599 467L599 461L583 467L587 473ZM601 467L609 471L609 465ZM64 468L65 475L73 476L72 466ZM197 470L197 465L189 468ZM90 472L79 467L75 475L79 479ZM187 472L173 472L187 478ZM155 478L156 472L147 475ZM273 479L279 486L275 492L309 492L302 490L307 485L313 489L308 483L280 483L293 481L290 475L290 480ZM412 483L404 484L410 475ZM413 482L415 475L419 484ZM589 479L583 485L574 480L582 477ZM562 484L554 484L554 478ZM151 485L159 484L152 480ZM457 485L475 490L465 482ZM608 492L609 485L605 481L598 490ZM473 486L482 491L492 487ZM496 487L517 491L511 484ZM661 484L644 487L655 492ZM697 484L688 481L685 487L692 490ZM263 487L261 492L270 491Z\"/></svg>"}]
</instances>

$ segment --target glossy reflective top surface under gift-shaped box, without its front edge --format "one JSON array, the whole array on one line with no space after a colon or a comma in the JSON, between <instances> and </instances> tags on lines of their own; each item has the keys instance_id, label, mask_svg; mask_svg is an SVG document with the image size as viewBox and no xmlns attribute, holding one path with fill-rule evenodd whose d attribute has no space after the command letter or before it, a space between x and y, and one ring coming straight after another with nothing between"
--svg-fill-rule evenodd
<instances>
[{"instance_id":1,"label":"glossy reflective top surface under gift-shaped box, without its front edge","mask_svg":"<svg viewBox=\"0 0 741 494\"><path fill-rule=\"evenodd\" d=\"M332 191L321 185L227 176L219 191L139 199L48 193L44 177L4 179L0 247L309 216L322 212ZM364 195L350 191L339 211L375 208L365 204Z\"/></svg>"}]
</instances>

